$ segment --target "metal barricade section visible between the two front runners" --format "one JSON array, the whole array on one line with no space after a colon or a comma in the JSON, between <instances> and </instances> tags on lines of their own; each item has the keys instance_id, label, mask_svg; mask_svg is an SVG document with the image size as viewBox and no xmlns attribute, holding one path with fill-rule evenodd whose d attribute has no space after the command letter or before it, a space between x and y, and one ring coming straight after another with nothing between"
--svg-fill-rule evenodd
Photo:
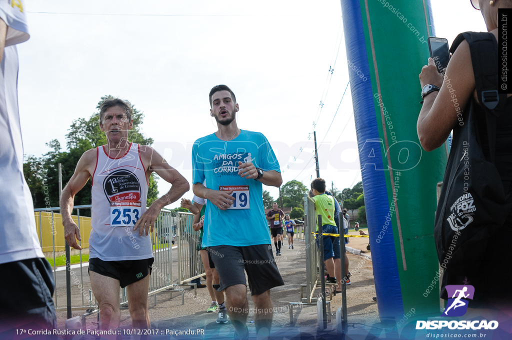
<instances>
[{"instance_id":1,"label":"metal barricade section visible between the two front runners","mask_svg":"<svg viewBox=\"0 0 512 340\"><path fill-rule=\"evenodd\" d=\"M194 215L178 212L176 244L178 245L178 284L185 284L205 274L199 253L200 231L194 231Z\"/></svg>"}]
</instances>

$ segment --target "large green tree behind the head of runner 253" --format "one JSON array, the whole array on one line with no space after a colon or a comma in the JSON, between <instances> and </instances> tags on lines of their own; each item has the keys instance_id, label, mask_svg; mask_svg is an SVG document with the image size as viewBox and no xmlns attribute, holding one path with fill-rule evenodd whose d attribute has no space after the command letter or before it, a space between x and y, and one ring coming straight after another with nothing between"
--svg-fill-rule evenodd
<instances>
[{"instance_id":1,"label":"large green tree behind the head of runner 253","mask_svg":"<svg viewBox=\"0 0 512 340\"><path fill-rule=\"evenodd\" d=\"M60 143L54 139L46 145L53 149L41 158L33 156L24 163L25 178L29 183L29 187L34 198L34 207L42 208L47 206L59 205L59 184L58 184L58 164L62 164L62 185L66 185L75 171L76 164L82 154L91 148L106 144L106 137L99 129L99 108L105 99L113 98L112 96L103 96L96 106L97 112L89 119L79 118L73 121L66 135L68 151L60 151ZM152 138L145 138L140 133L144 114L133 107L134 127L129 133L129 139L132 142L141 145L153 144ZM37 164L42 164L42 168ZM35 176L34 171L38 172ZM35 176L35 177L34 177ZM150 177L150 187L147 195L147 205L149 206L158 198L158 184L155 180L156 175ZM32 179L32 178L35 179ZM41 180L38 180L40 178ZM42 190L43 186L46 190ZM43 196L41 196L43 193ZM46 194L47 193L47 194ZM41 199L42 197L42 199ZM49 202L49 203L47 203ZM91 181L75 196L74 205L91 204ZM86 211L83 212L87 214ZM82 214L82 212L80 212Z\"/></svg>"}]
</instances>

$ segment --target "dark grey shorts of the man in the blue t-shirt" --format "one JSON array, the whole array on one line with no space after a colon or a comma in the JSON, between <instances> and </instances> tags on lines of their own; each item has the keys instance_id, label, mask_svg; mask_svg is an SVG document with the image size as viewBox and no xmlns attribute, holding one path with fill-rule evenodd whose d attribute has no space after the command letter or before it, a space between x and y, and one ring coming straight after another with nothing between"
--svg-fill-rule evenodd
<instances>
[{"instance_id":1,"label":"dark grey shorts of the man in the blue t-shirt","mask_svg":"<svg viewBox=\"0 0 512 340\"><path fill-rule=\"evenodd\" d=\"M233 285L247 286L245 272L249 280L251 295L259 295L270 288L284 285L270 244L245 247L212 246L209 247L208 252L219 273L220 288L217 289L218 291Z\"/></svg>"}]
</instances>

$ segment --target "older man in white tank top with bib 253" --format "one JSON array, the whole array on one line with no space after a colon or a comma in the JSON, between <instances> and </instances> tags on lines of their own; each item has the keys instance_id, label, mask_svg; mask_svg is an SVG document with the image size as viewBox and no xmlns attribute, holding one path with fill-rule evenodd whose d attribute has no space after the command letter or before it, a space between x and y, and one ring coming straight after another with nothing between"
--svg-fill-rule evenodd
<instances>
[{"instance_id":1,"label":"older man in white tank top with bib 253","mask_svg":"<svg viewBox=\"0 0 512 340\"><path fill-rule=\"evenodd\" d=\"M83 153L75 173L62 190L60 211L66 241L81 249L80 231L71 219L73 199L92 178L92 231L89 275L98 300L101 329L119 326L119 286L126 287L134 328L150 327L147 311L153 231L160 209L178 200L188 182L153 148L128 141L133 128L132 105L120 99L101 104L99 126L107 143ZM172 184L169 192L146 209L148 181L156 172Z\"/></svg>"}]
</instances>

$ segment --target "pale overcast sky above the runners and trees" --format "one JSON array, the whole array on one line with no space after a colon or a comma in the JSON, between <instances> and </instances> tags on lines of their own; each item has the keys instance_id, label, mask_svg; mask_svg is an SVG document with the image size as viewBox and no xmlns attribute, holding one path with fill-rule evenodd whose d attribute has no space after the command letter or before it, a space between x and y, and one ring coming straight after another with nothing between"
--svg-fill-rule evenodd
<instances>
[{"instance_id":1,"label":"pale overcast sky above the runners and trees","mask_svg":"<svg viewBox=\"0 0 512 340\"><path fill-rule=\"evenodd\" d=\"M460 32L485 31L469 1L432 3L436 35L450 44ZM272 144L283 183L309 186L316 177L313 131L328 186L361 180L350 86L342 100L349 79L339 0L24 6L31 37L18 45L18 92L26 155L47 153L52 139L64 151L73 120L89 118L110 94L144 112L143 134L191 182L191 145L217 130L208 92L223 83L237 96L239 128ZM159 181L160 193L168 188Z\"/></svg>"}]
</instances>

